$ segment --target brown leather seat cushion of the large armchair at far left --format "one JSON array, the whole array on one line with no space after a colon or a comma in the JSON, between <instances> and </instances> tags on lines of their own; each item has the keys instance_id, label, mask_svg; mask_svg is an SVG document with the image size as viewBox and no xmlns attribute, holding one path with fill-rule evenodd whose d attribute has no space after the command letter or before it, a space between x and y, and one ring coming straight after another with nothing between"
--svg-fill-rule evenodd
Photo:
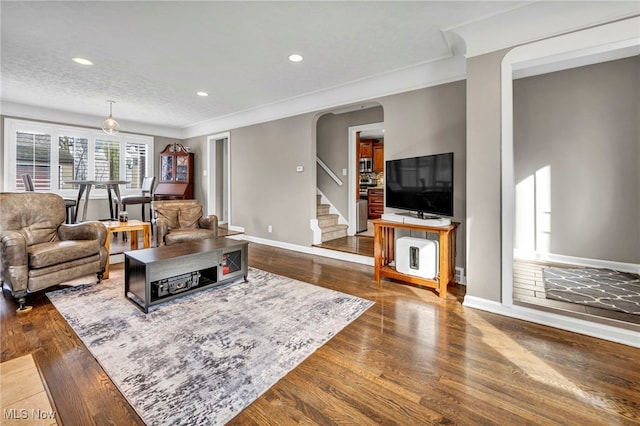
<instances>
[{"instance_id":1,"label":"brown leather seat cushion of the large armchair at far left","mask_svg":"<svg viewBox=\"0 0 640 426\"><path fill-rule=\"evenodd\" d=\"M29 267L44 268L100 253L97 240L55 241L28 247Z\"/></svg>"}]
</instances>

